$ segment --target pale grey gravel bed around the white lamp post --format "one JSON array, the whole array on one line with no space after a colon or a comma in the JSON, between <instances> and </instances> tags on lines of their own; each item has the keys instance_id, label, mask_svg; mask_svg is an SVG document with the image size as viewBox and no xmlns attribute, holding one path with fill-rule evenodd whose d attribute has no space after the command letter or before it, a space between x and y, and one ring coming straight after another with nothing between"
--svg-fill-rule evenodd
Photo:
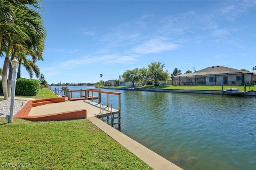
<instances>
[{"instance_id":1,"label":"pale grey gravel bed around the white lamp post","mask_svg":"<svg viewBox=\"0 0 256 170\"><path fill-rule=\"evenodd\" d=\"M25 106L27 102L27 100L14 100L13 115L15 115L23 106ZM10 115L10 107L10 100L0 100L0 117Z\"/></svg>"}]
</instances>

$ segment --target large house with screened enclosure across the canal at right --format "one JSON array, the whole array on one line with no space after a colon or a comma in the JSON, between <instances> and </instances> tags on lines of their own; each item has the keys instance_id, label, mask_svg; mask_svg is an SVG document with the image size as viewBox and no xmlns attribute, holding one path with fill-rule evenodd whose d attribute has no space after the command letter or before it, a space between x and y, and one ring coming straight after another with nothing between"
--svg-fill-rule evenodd
<instances>
[{"instance_id":1,"label":"large house with screened enclosure across the canal at right","mask_svg":"<svg viewBox=\"0 0 256 170\"><path fill-rule=\"evenodd\" d=\"M172 84L175 85L222 85L252 82L252 72L237 70L224 66L212 66L202 70L180 74L172 78Z\"/></svg>"}]
</instances>

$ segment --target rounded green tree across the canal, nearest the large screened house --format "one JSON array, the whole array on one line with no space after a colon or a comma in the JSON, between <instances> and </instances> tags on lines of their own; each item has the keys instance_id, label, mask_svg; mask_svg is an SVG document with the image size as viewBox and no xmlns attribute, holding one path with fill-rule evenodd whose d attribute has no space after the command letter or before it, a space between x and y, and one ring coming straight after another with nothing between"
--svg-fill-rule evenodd
<instances>
[{"instance_id":1,"label":"rounded green tree across the canal, nearest the large screened house","mask_svg":"<svg viewBox=\"0 0 256 170\"><path fill-rule=\"evenodd\" d=\"M154 86L157 86L158 81L166 81L169 78L168 70L164 71L164 64L154 62L148 65L148 79L154 80Z\"/></svg>"}]
</instances>

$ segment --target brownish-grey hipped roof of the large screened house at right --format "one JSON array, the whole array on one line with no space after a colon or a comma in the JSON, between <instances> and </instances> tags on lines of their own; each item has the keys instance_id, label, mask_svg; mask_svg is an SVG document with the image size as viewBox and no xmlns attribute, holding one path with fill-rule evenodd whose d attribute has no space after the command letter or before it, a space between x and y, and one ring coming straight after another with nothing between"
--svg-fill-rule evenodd
<instances>
[{"instance_id":1,"label":"brownish-grey hipped roof of the large screened house at right","mask_svg":"<svg viewBox=\"0 0 256 170\"><path fill-rule=\"evenodd\" d=\"M237 70L234 68L224 67L224 66L212 66L207 67L202 70L188 73L188 74L180 74L174 77L183 77L183 76L205 76L205 75L223 75L223 74L252 74L252 72Z\"/></svg>"}]
</instances>

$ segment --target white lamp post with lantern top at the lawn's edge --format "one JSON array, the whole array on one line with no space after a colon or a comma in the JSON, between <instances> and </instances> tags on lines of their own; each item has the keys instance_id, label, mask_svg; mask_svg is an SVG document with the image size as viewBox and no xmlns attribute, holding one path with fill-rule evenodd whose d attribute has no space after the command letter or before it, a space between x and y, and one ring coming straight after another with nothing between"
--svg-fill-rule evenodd
<instances>
[{"instance_id":1,"label":"white lamp post with lantern top at the lawn's edge","mask_svg":"<svg viewBox=\"0 0 256 170\"><path fill-rule=\"evenodd\" d=\"M10 61L12 64L12 91L11 91L11 107L10 107L10 115L6 115L6 119L8 119L8 122L13 121L13 107L14 107L14 96L15 96L15 86L16 86L16 69L19 66L19 61L16 59L13 59Z\"/></svg>"}]
</instances>

